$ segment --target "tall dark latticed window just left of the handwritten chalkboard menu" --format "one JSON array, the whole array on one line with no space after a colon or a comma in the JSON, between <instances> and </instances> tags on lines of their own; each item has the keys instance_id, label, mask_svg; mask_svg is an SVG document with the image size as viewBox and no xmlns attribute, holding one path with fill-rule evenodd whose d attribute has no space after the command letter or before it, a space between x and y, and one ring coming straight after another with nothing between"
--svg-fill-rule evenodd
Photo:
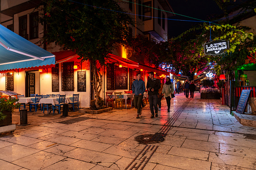
<instances>
[{"instance_id":1,"label":"tall dark latticed window just left of the handwritten chalkboard menu","mask_svg":"<svg viewBox=\"0 0 256 170\"><path fill-rule=\"evenodd\" d=\"M61 63L61 90L74 91L74 61Z\"/></svg>"}]
</instances>

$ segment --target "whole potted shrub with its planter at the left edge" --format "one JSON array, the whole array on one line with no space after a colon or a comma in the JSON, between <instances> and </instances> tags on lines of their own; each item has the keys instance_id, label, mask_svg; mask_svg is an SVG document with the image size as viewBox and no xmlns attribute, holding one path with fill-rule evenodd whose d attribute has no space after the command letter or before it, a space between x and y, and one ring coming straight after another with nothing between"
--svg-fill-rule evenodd
<instances>
[{"instance_id":1,"label":"whole potted shrub with its planter at the left edge","mask_svg":"<svg viewBox=\"0 0 256 170\"><path fill-rule=\"evenodd\" d=\"M17 103L19 99L11 98L0 98L0 133L10 131L10 128L13 129L12 125L12 112L14 108L19 108L20 104ZM5 127L5 126L10 126ZM16 128L16 126L14 125Z\"/></svg>"}]
</instances>

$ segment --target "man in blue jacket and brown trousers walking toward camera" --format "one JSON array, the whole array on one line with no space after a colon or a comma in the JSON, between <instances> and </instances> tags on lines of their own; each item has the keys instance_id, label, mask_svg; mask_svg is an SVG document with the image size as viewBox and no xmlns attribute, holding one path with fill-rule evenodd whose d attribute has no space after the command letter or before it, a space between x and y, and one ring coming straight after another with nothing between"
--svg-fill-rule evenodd
<instances>
[{"instance_id":1,"label":"man in blue jacket and brown trousers walking toward camera","mask_svg":"<svg viewBox=\"0 0 256 170\"><path fill-rule=\"evenodd\" d=\"M137 108L137 117L136 118L140 118L140 115L142 112L141 101L142 101L143 94L146 90L145 83L141 79L140 73L137 74L137 79L133 82L132 90L133 90L133 94L134 94L134 106L135 106L135 108Z\"/></svg>"}]
</instances>

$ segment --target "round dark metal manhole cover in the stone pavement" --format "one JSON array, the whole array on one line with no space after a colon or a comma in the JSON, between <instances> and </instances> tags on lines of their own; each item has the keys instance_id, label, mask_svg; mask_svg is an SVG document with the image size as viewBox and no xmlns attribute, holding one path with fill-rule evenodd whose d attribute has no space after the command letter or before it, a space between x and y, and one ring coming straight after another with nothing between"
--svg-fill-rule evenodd
<instances>
[{"instance_id":1,"label":"round dark metal manhole cover in the stone pavement","mask_svg":"<svg viewBox=\"0 0 256 170\"><path fill-rule=\"evenodd\" d=\"M157 138L155 138L154 136L155 134L142 134L135 137L135 140L138 141L140 144L153 144L164 141L164 137L162 135L159 135ZM153 137L155 139L152 140Z\"/></svg>"}]
</instances>

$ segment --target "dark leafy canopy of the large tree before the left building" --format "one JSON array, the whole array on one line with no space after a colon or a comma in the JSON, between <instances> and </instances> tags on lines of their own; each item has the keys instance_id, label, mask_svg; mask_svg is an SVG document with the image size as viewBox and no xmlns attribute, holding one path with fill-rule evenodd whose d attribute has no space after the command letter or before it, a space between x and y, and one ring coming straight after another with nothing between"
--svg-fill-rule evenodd
<instances>
[{"instance_id":1,"label":"dark leafy canopy of the large tree before the left building","mask_svg":"<svg viewBox=\"0 0 256 170\"><path fill-rule=\"evenodd\" d=\"M134 22L115 0L49 0L43 3L39 21L47 24L41 43L55 43L75 51L80 59L105 63L105 58L129 38ZM84 5L86 4L86 5ZM88 6L89 5L89 6ZM95 8L95 7L100 8Z\"/></svg>"}]
</instances>

